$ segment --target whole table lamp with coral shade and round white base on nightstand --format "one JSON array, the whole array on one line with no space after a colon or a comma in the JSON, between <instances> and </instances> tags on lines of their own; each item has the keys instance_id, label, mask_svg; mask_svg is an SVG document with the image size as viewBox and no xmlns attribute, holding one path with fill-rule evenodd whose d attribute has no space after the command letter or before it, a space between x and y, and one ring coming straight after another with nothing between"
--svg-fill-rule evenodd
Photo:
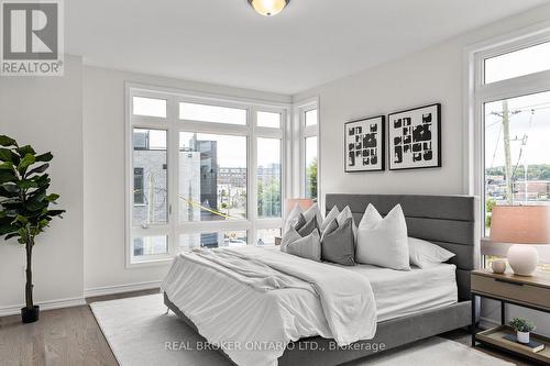
<instances>
[{"instance_id":1,"label":"whole table lamp with coral shade and round white base on nightstand","mask_svg":"<svg viewBox=\"0 0 550 366\"><path fill-rule=\"evenodd\" d=\"M550 206L495 206L491 241L515 243L508 249L508 264L514 274L531 276L539 254L529 244L550 244Z\"/></svg>"}]
</instances>

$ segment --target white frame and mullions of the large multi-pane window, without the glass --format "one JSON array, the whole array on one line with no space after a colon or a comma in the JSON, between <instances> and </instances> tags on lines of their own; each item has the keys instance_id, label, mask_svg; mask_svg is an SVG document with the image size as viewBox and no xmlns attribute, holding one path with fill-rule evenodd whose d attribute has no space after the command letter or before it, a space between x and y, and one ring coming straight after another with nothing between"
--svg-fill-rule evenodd
<instances>
[{"instance_id":1,"label":"white frame and mullions of the large multi-pane window, without the glass","mask_svg":"<svg viewBox=\"0 0 550 366\"><path fill-rule=\"evenodd\" d=\"M166 99L166 118L153 118L133 115L133 97ZM288 191L286 136L290 129L292 104L268 102L246 98L233 98L211 93L179 90L173 88L153 87L141 84L125 84L125 265L127 268L135 266L151 266L165 264L174 258L178 252L178 239L180 234L196 234L209 232L246 231L248 244L255 244L257 230L276 229L283 225L283 218L260 219L257 217L257 189L256 189L256 142L258 137L280 138L280 163L282 163L282 206ZM212 123L202 121L179 120L179 102L191 102L210 104L216 107L229 107L246 110L246 125ZM256 126L256 112L280 113L280 129ZM151 225L148 229L133 226L133 146L132 132L134 127L162 129L167 131L167 167L168 167L168 222L165 225ZM239 135L248 138L248 178L246 178L246 215L240 221L219 222L184 222L178 218L178 166L179 166L179 132L198 132L209 134ZM282 215L284 208L282 207ZM133 235L167 235L168 253L165 255L146 256L134 259Z\"/></svg>"}]
</instances>

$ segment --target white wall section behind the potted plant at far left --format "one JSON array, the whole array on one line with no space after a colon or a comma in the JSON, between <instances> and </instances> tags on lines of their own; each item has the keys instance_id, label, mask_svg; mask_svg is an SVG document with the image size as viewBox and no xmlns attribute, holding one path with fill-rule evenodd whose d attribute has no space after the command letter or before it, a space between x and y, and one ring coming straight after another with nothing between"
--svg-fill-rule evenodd
<instances>
[{"instance_id":1,"label":"white wall section behind the potted plant at far left","mask_svg":"<svg viewBox=\"0 0 550 366\"><path fill-rule=\"evenodd\" d=\"M82 79L81 59L65 58L64 77L0 77L0 134L51 151L52 192L67 210L38 236L34 248L34 299L81 299ZM23 246L0 242L0 313L24 302Z\"/></svg>"}]
</instances>

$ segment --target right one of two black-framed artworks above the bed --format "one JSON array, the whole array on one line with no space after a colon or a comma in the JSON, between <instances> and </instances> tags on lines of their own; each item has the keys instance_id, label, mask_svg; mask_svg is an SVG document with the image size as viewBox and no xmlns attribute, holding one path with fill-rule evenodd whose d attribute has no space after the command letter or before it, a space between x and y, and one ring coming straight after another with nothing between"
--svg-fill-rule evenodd
<instances>
[{"instance_id":1,"label":"right one of two black-framed artworks above the bed","mask_svg":"<svg viewBox=\"0 0 550 366\"><path fill-rule=\"evenodd\" d=\"M441 104L388 115L389 170L441 166Z\"/></svg>"}]
</instances>

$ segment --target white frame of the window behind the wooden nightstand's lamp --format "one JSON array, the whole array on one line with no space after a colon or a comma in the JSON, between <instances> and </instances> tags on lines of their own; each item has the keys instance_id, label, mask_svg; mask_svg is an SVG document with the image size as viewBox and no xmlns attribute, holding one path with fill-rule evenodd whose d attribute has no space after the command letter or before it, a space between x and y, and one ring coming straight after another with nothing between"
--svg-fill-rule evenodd
<instances>
[{"instance_id":1,"label":"white frame of the window behind the wooden nightstand's lamp","mask_svg":"<svg viewBox=\"0 0 550 366\"><path fill-rule=\"evenodd\" d=\"M464 192L479 197L479 234L485 234L484 104L550 90L550 70L485 84L484 60L550 41L550 22L540 23L464 49ZM485 253L486 254L486 253Z\"/></svg>"}]
</instances>

